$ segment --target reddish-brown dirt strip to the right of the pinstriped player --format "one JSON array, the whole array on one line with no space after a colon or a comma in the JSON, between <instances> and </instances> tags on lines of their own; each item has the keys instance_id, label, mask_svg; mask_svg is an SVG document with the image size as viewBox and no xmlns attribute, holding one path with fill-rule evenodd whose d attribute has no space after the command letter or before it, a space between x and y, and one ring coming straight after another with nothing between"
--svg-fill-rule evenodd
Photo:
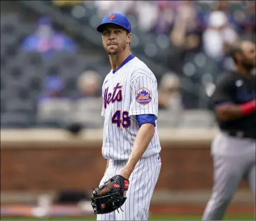
<instances>
[{"instance_id":1,"label":"reddish-brown dirt strip to the right of the pinstriped player","mask_svg":"<svg viewBox=\"0 0 256 221\"><path fill-rule=\"evenodd\" d=\"M200 215L206 205L203 204L154 204L150 206L151 215ZM254 215L253 204L231 204L229 215Z\"/></svg>"}]
</instances>

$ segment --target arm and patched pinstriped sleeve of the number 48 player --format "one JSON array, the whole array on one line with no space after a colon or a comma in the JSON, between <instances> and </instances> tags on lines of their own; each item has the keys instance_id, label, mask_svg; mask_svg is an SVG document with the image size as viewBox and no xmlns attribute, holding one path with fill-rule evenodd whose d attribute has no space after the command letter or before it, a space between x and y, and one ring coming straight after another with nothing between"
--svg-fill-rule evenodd
<instances>
[{"instance_id":1,"label":"arm and patched pinstriped sleeve of the number 48 player","mask_svg":"<svg viewBox=\"0 0 256 221\"><path fill-rule=\"evenodd\" d=\"M158 118L157 79L153 73L147 68L137 69L130 88L132 93L129 116L137 120L139 131L133 142L129 159L117 173L128 180L155 134L155 120Z\"/></svg>"}]
</instances>

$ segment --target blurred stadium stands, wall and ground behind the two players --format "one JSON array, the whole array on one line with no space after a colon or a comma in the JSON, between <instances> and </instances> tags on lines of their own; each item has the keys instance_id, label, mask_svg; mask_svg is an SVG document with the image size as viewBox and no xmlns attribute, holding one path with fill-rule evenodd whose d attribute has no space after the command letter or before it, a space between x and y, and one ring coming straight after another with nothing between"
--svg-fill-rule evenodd
<instances>
[{"instance_id":1,"label":"blurred stadium stands, wall and ground behind the two players","mask_svg":"<svg viewBox=\"0 0 256 221\"><path fill-rule=\"evenodd\" d=\"M230 45L255 42L255 1L1 1L1 220L95 219L110 70L95 28L109 12L129 16L132 52L158 80L162 171L150 218L201 218L216 132L209 96L233 67ZM247 184L227 215L254 219Z\"/></svg>"}]
</instances>

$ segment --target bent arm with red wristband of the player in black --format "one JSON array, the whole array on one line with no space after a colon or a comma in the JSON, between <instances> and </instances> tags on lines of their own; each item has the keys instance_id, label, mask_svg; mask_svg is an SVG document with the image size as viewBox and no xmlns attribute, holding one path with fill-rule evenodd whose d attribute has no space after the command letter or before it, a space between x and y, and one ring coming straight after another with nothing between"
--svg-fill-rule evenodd
<instances>
[{"instance_id":1,"label":"bent arm with red wristband of the player in black","mask_svg":"<svg viewBox=\"0 0 256 221\"><path fill-rule=\"evenodd\" d=\"M236 120L255 112L255 101L236 104L232 98L232 94L234 93L236 93L236 86L233 80L223 78L216 85L212 100L215 106L215 113L219 120Z\"/></svg>"}]
</instances>

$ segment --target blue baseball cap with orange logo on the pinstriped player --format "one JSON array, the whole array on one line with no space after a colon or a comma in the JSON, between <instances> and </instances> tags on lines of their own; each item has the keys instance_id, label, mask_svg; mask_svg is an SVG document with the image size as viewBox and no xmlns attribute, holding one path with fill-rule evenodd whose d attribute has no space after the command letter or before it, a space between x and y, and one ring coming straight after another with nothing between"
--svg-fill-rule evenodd
<instances>
[{"instance_id":1,"label":"blue baseball cap with orange logo on the pinstriped player","mask_svg":"<svg viewBox=\"0 0 256 221\"><path fill-rule=\"evenodd\" d=\"M126 15L123 15L121 13L110 13L109 15L105 16L102 19L101 24L99 24L99 26L97 27L97 31L101 32L103 31L103 27L106 24L117 24L121 27L123 27L124 29L126 29L127 31L131 32L131 23L130 21L127 19Z\"/></svg>"}]
</instances>

